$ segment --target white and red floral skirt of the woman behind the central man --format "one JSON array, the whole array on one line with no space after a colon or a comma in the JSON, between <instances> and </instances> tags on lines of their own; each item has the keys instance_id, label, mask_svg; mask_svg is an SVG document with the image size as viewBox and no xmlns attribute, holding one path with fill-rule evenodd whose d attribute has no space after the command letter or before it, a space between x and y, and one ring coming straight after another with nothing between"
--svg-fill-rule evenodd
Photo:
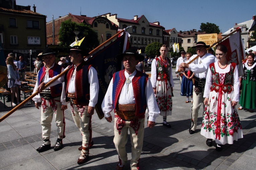
<instances>
[{"instance_id":1,"label":"white and red floral skirt of the woman behind the central man","mask_svg":"<svg viewBox=\"0 0 256 170\"><path fill-rule=\"evenodd\" d=\"M160 110L161 116L172 115L172 92L169 81L156 82L156 101Z\"/></svg>"}]
</instances>

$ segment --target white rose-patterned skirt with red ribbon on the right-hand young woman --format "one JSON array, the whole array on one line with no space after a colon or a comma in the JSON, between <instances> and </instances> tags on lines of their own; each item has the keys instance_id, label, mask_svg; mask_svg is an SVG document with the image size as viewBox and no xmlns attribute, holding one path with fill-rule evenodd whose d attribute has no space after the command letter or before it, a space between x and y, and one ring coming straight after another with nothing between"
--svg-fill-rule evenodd
<instances>
[{"instance_id":1,"label":"white rose-patterned skirt with red ribbon on the right-hand young woman","mask_svg":"<svg viewBox=\"0 0 256 170\"><path fill-rule=\"evenodd\" d=\"M234 140L243 138L242 126L235 107L232 107L233 91L222 94L218 99L219 93L210 92L208 106L203 113L201 135L208 139L214 139L218 144L233 144ZM220 101L221 100L221 101ZM219 128L217 127L218 101L221 102L221 112ZM216 133L220 130L220 135L216 138ZM219 139L220 137L220 139Z\"/></svg>"}]
</instances>

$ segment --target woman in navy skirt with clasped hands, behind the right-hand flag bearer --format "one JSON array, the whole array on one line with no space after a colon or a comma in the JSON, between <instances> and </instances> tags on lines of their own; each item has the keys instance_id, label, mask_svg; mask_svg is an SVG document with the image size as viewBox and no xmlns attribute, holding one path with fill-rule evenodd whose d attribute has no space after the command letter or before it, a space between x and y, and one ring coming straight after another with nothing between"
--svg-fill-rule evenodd
<instances>
[{"instance_id":1,"label":"woman in navy skirt with clasped hands, behind the right-hand flag bearer","mask_svg":"<svg viewBox=\"0 0 256 170\"><path fill-rule=\"evenodd\" d=\"M186 53L186 60L189 60L191 54L188 52ZM194 73L186 68L186 70L182 73L182 81L181 81L181 96L186 96L187 100L185 103L189 103L189 96L191 96L191 103L193 103L193 81L192 78L194 77Z\"/></svg>"}]
</instances>

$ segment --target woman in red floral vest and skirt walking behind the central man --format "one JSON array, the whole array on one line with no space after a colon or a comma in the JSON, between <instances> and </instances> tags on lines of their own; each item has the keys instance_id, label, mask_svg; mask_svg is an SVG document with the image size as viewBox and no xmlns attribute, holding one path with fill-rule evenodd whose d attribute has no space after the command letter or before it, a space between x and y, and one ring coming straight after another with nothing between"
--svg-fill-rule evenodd
<instances>
[{"instance_id":1,"label":"woman in red floral vest and skirt walking behind the central man","mask_svg":"<svg viewBox=\"0 0 256 170\"><path fill-rule=\"evenodd\" d=\"M160 115L163 116L163 125L171 128L167 123L167 116L172 115L173 78L171 60L166 57L167 45L160 48L160 56L155 58L151 65L151 82L154 89Z\"/></svg>"}]
</instances>

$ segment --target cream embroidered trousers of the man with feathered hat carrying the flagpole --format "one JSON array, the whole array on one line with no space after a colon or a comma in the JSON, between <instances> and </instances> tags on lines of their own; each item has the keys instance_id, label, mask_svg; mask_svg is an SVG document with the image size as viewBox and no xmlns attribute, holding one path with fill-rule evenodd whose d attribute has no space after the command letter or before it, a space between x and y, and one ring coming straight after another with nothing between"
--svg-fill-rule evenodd
<instances>
[{"instance_id":1,"label":"cream embroidered trousers of the man with feathered hat carrying the flagpole","mask_svg":"<svg viewBox=\"0 0 256 170\"><path fill-rule=\"evenodd\" d=\"M83 137L82 146L89 151L89 145L92 139L92 117L87 112L88 106L74 105L70 102L70 109L76 127L78 127Z\"/></svg>"}]
</instances>

